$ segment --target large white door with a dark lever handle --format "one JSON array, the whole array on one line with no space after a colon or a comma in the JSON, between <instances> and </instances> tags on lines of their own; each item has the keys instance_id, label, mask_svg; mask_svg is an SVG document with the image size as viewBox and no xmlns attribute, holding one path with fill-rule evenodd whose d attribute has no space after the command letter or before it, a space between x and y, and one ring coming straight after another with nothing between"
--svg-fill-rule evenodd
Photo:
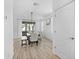
<instances>
[{"instance_id":1,"label":"large white door with a dark lever handle","mask_svg":"<svg viewBox=\"0 0 79 59\"><path fill-rule=\"evenodd\" d=\"M74 2L56 11L54 18L55 53L61 59L75 59Z\"/></svg>"}]
</instances>

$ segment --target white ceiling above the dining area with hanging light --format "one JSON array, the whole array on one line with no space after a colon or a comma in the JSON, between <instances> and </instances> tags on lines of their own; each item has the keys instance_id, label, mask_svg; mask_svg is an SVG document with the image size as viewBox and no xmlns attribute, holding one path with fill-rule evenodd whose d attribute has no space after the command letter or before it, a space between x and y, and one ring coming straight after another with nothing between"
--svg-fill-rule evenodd
<instances>
[{"instance_id":1,"label":"white ceiling above the dining area with hanging light","mask_svg":"<svg viewBox=\"0 0 79 59\"><path fill-rule=\"evenodd\" d=\"M38 3L34 6L33 3ZM31 11L40 15L52 13L52 0L14 0L14 15L25 16L29 15Z\"/></svg>"}]
</instances>

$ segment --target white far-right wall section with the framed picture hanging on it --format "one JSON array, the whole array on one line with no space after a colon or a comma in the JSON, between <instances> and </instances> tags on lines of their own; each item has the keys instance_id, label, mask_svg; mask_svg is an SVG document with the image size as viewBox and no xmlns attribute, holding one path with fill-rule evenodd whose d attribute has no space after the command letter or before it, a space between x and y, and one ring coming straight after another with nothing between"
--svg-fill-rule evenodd
<instances>
[{"instance_id":1,"label":"white far-right wall section with the framed picture hanging on it","mask_svg":"<svg viewBox=\"0 0 79 59\"><path fill-rule=\"evenodd\" d=\"M46 25L49 18L51 18L50 24ZM50 15L43 19L43 36L53 41L53 17Z\"/></svg>"}]
</instances>

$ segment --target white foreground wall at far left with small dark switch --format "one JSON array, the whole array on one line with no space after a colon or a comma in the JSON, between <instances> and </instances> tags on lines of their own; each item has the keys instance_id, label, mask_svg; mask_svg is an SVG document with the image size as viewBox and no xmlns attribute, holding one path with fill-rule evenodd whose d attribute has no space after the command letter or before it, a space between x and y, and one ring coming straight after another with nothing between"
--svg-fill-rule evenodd
<instances>
[{"instance_id":1,"label":"white foreground wall at far left with small dark switch","mask_svg":"<svg viewBox=\"0 0 79 59\"><path fill-rule=\"evenodd\" d=\"M4 58L12 59L13 57L13 0L4 2ZM6 18L7 16L7 18Z\"/></svg>"}]
</instances>

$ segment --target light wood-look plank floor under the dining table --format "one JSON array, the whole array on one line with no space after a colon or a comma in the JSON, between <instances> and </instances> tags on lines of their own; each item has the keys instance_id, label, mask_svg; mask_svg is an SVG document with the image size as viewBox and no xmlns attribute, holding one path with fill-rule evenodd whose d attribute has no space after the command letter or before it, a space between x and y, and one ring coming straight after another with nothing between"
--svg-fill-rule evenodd
<instances>
[{"instance_id":1,"label":"light wood-look plank floor under the dining table","mask_svg":"<svg viewBox=\"0 0 79 59\"><path fill-rule=\"evenodd\" d=\"M42 39L38 46L21 46L20 39L14 40L13 59L58 59L52 53L52 42Z\"/></svg>"}]
</instances>

